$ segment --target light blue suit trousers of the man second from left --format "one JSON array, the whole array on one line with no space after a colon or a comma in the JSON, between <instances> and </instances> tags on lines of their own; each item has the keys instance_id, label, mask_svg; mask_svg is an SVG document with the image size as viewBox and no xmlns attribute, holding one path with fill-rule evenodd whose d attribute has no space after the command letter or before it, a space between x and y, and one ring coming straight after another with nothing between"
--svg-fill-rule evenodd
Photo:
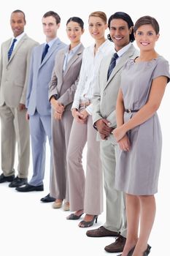
<instances>
[{"instance_id":1,"label":"light blue suit trousers of the man second from left","mask_svg":"<svg viewBox=\"0 0 170 256\"><path fill-rule=\"evenodd\" d=\"M31 148L33 159L33 176L28 183L32 186L43 184L45 177L45 152L46 140L50 144L50 173L52 172L52 138L51 138L51 115L41 116L37 111L29 118Z\"/></svg>"}]
</instances>

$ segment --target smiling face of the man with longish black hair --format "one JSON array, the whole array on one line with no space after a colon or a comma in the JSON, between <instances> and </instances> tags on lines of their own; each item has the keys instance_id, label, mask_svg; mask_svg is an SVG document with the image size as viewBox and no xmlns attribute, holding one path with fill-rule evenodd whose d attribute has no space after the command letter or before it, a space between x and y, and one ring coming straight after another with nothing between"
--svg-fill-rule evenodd
<instances>
[{"instance_id":1,"label":"smiling face of the man with longish black hair","mask_svg":"<svg viewBox=\"0 0 170 256\"><path fill-rule=\"evenodd\" d=\"M115 50L120 50L130 42L132 28L128 29L128 23L123 19L113 19L110 22L110 37L115 43Z\"/></svg>"}]
</instances>

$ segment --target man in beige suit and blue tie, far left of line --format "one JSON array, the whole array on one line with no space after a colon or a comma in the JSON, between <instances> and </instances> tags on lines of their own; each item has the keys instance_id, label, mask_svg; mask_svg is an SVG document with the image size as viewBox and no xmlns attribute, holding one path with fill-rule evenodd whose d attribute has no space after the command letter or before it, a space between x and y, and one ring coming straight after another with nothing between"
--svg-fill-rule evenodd
<instances>
[{"instance_id":1,"label":"man in beige suit and blue tie, far left of line","mask_svg":"<svg viewBox=\"0 0 170 256\"><path fill-rule=\"evenodd\" d=\"M13 38L1 45L0 116L1 170L0 183L19 187L27 182L29 165L29 129L26 121L26 84L32 48L38 45L24 33L24 12L15 10L10 17ZM18 142L18 176L15 177L15 143Z\"/></svg>"}]
</instances>

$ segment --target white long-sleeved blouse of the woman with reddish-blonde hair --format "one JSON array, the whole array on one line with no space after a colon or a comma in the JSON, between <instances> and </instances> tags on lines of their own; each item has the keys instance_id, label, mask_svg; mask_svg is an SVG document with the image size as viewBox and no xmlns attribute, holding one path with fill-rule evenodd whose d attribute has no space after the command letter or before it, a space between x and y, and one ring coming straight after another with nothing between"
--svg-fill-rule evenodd
<instances>
[{"instance_id":1,"label":"white long-sleeved blouse of the woman with reddish-blonde hair","mask_svg":"<svg viewBox=\"0 0 170 256\"><path fill-rule=\"evenodd\" d=\"M106 40L98 48L96 55L94 55L94 47L94 44L90 45L88 48L85 48L84 52L82 53L80 80L74 95L72 108L79 109L80 101L88 102L93 98L93 89L101 60L107 54L112 54L115 51L113 42L110 42L109 40ZM93 110L92 104L88 105L85 110L87 110L88 114L91 115Z\"/></svg>"}]
</instances>

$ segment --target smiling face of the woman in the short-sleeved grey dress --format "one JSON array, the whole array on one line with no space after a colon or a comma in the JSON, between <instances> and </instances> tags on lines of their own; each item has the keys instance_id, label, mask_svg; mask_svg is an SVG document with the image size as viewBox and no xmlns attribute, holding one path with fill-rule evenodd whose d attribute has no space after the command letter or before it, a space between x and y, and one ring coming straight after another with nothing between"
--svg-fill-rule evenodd
<instances>
[{"instance_id":1,"label":"smiling face of the woman in the short-sleeved grey dress","mask_svg":"<svg viewBox=\"0 0 170 256\"><path fill-rule=\"evenodd\" d=\"M155 48L155 42L158 41L159 34L156 34L152 25L146 24L139 26L134 34L136 44L140 50L153 50Z\"/></svg>"}]
</instances>

